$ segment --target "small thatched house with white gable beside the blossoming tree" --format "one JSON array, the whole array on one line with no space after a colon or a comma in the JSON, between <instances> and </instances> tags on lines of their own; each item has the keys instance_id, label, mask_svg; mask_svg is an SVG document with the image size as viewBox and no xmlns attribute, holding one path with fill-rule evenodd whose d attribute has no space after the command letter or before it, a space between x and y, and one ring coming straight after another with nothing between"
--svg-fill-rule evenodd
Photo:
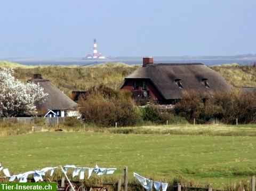
<instances>
[{"instance_id":1,"label":"small thatched house with white gable beside the blossoming tree","mask_svg":"<svg viewBox=\"0 0 256 191\"><path fill-rule=\"evenodd\" d=\"M33 79L28 82L38 84L44 88L44 93L48 94L44 102L36 105L38 111L45 113L45 117L66 117L76 109L77 103L54 86L50 80L43 79L41 74L34 74Z\"/></svg>"}]
</instances>

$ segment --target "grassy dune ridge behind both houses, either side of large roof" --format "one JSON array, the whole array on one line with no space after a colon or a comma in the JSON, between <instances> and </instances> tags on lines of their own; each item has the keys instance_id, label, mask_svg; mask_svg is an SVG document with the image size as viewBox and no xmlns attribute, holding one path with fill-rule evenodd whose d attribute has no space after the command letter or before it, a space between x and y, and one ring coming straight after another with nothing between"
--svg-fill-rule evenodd
<instances>
[{"instance_id":1,"label":"grassy dune ridge behind both houses, either side of large roof","mask_svg":"<svg viewBox=\"0 0 256 191\"><path fill-rule=\"evenodd\" d=\"M2 61L0 67L14 68L14 76L23 82L31 79L34 73L41 73L44 78L50 79L54 85L70 96L72 90L86 90L100 84L117 89L126 76L141 66L124 63L105 63L85 67L28 66ZM241 87L256 87L256 67L252 65L224 64L210 68L218 72L235 90Z\"/></svg>"}]
</instances>

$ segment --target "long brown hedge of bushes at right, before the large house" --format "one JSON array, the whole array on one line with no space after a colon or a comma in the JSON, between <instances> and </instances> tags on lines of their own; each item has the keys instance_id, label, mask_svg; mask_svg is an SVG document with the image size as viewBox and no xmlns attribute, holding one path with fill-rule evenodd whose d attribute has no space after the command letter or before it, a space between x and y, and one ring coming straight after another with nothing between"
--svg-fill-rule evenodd
<instances>
[{"instance_id":1,"label":"long brown hedge of bushes at right, before the large house","mask_svg":"<svg viewBox=\"0 0 256 191\"><path fill-rule=\"evenodd\" d=\"M207 123L218 119L220 122L235 124L256 122L256 93L215 93L202 94L186 92L175 105L175 113L189 122Z\"/></svg>"}]
</instances>

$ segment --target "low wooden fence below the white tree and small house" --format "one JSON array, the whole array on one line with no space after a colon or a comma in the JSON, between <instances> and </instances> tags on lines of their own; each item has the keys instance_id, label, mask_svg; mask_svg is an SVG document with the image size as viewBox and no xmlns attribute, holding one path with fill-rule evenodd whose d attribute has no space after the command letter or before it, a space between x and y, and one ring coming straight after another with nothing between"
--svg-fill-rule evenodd
<instances>
[{"instance_id":1,"label":"low wooden fence below the white tree and small house","mask_svg":"<svg viewBox=\"0 0 256 191\"><path fill-rule=\"evenodd\" d=\"M65 118L69 117L56 117L56 118L38 118L38 117L20 117L20 118L0 118L0 122L20 122L20 123L38 123L38 124L59 124L65 122Z\"/></svg>"}]
</instances>

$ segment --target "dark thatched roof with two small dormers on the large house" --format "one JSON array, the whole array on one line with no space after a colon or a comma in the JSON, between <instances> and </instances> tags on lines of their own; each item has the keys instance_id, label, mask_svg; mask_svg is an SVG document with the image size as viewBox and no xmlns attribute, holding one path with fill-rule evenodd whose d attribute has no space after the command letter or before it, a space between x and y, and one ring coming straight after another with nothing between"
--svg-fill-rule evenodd
<instances>
[{"instance_id":1,"label":"dark thatched roof with two small dormers on the large house","mask_svg":"<svg viewBox=\"0 0 256 191\"><path fill-rule=\"evenodd\" d=\"M179 99L183 91L192 89L211 94L230 91L227 82L217 72L200 63L148 64L135 70L125 81L127 79L150 79L165 99ZM183 88L177 85L177 80ZM209 87L202 80L206 80Z\"/></svg>"}]
</instances>

